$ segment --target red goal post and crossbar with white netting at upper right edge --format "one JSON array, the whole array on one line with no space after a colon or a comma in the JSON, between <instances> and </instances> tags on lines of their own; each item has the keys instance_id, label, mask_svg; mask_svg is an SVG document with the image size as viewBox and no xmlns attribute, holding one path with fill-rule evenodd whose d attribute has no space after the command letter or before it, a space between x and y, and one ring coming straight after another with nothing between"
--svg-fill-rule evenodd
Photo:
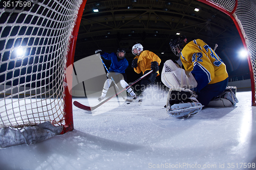
<instances>
[{"instance_id":1,"label":"red goal post and crossbar with white netting at upper right edge","mask_svg":"<svg viewBox=\"0 0 256 170\"><path fill-rule=\"evenodd\" d=\"M198 0L229 15L236 25L244 47L248 51L251 78L252 106L256 106L256 1L251 0Z\"/></svg>"}]
</instances>

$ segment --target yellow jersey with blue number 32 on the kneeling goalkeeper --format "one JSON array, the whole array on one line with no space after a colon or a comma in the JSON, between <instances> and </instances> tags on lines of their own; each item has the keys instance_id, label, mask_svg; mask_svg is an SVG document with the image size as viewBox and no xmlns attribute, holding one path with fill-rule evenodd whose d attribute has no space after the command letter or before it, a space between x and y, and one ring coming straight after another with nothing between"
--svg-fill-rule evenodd
<instances>
[{"instance_id":1,"label":"yellow jersey with blue number 32 on the kneeling goalkeeper","mask_svg":"<svg viewBox=\"0 0 256 170\"><path fill-rule=\"evenodd\" d=\"M207 84L218 83L228 78L226 65L201 39L187 43L180 57L185 70L191 71L195 77L198 90Z\"/></svg>"}]
</instances>

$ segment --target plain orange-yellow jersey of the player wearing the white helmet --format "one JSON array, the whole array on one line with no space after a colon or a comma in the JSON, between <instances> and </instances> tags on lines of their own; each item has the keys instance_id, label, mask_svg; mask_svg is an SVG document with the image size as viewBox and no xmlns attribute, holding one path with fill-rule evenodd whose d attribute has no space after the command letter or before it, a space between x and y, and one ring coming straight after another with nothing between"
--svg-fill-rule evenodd
<instances>
[{"instance_id":1,"label":"plain orange-yellow jersey of the player wearing the white helmet","mask_svg":"<svg viewBox=\"0 0 256 170\"><path fill-rule=\"evenodd\" d=\"M161 63L161 59L153 52L148 50L142 51L139 56L136 56L134 59L138 59L138 66L134 68L134 71L140 74L142 71L143 74L146 70L151 70L151 62L157 61L158 65ZM159 76L159 71L157 71L157 76Z\"/></svg>"}]
</instances>

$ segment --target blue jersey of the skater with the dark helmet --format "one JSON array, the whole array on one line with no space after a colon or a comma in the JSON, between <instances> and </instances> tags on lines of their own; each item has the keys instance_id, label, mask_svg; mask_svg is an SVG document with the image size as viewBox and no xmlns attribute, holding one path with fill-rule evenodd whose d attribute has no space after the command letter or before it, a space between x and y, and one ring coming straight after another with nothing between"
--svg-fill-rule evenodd
<instances>
[{"instance_id":1,"label":"blue jersey of the skater with the dark helmet","mask_svg":"<svg viewBox=\"0 0 256 170\"><path fill-rule=\"evenodd\" d=\"M119 73L124 73L125 69L128 67L129 63L128 61L124 58L121 60L118 60L116 53L104 53L101 55L104 59L106 60L111 60L111 65L110 65L110 72L119 72Z\"/></svg>"}]
</instances>

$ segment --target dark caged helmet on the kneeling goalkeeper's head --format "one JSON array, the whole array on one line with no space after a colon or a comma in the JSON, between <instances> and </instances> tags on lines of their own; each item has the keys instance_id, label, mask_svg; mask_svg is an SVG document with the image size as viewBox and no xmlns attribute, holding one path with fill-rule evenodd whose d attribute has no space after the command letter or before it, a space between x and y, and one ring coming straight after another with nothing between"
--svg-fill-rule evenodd
<instances>
[{"instance_id":1,"label":"dark caged helmet on the kneeling goalkeeper's head","mask_svg":"<svg viewBox=\"0 0 256 170\"><path fill-rule=\"evenodd\" d=\"M172 49L173 53L180 57L180 53L184 46L186 45L187 38L184 35L175 35L170 40L170 49Z\"/></svg>"}]
</instances>

